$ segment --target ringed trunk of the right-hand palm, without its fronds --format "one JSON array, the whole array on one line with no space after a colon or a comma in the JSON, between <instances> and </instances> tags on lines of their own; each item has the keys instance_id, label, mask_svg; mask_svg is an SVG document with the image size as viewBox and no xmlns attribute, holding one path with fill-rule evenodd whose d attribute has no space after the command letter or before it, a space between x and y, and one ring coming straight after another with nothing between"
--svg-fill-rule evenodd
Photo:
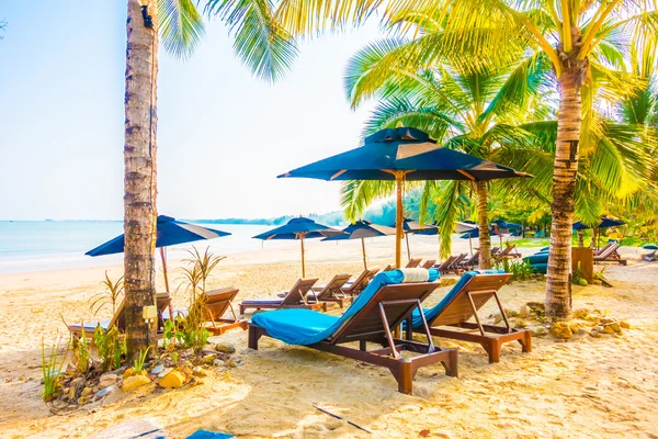
<instances>
[{"instance_id":1,"label":"ringed trunk of the right-hand palm, without its fronds","mask_svg":"<svg viewBox=\"0 0 658 439\"><path fill-rule=\"evenodd\" d=\"M553 225L546 282L546 315L571 313L571 225L580 139L580 71L574 66L559 78L557 143L553 173Z\"/></svg>"}]
</instances>

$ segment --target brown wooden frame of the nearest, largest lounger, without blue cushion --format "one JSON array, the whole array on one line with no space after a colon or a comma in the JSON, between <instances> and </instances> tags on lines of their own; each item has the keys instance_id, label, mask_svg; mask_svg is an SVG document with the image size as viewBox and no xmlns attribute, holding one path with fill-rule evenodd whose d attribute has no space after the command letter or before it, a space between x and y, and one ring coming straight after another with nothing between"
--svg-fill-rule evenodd
<instances>
[{"instance_id":1,"label":"brown wooden frame of the nearest, largest lounger, without blue cushion","mask_svg":"<svg viewBox=\"0 0 658 439\"><path fill-rule=\"evenodd\" d=\"M434 347L424 316L427 344L398 339L393 335L395 328L410 317L413 309L422 309L422 301L436 286L438 284L430 282L385 285L331 337L307 347L385 367L396 379L398 391L405 394L411 394L413 376L422 367L441 363L447 375L457 376L457 350ZM249 324L249 348L257 350L258 341L263 336L271 337L264 328ZM340 346L353 341L359 341L359 349ZM383 348L368 351L368 341L382 345ZM404 358L400 352L405 350L419 354Z\"/></svg>"}]
</instances>

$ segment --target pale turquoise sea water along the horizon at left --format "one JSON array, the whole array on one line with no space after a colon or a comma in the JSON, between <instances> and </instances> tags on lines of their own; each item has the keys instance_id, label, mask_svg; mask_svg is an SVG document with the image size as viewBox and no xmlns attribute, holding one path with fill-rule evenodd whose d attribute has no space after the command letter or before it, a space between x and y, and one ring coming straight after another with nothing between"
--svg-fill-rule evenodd
<instances>
[{"instance_id":1,"label":"pale turquoise sea water along the horizon at left","mask_svg":"<svg viewBox=\"0 0 658 439\"><path fill-rule=\"evenodd\" d=\"M211 247L215 255L227 255L260 249L262 243L251 239L269 228L262 225L206 225L232 235L223 238L173 246L171 258L184 257L183 250L196 245ZM120 221L29 222L0 221L0 273L16 273L64 268L83 268L123 263L123 255L101 257L84 252L123 233ZM268 243L268 247L290 245L286 241Z\"/></svg>"}]
</instances>

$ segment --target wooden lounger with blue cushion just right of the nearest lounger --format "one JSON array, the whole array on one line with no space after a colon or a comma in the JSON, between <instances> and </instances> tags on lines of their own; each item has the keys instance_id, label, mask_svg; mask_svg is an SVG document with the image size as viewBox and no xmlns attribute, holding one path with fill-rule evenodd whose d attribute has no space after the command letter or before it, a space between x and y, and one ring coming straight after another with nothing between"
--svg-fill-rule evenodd
<instances>
[{"instance_id":1,"label":"wooden lounger with blue cushion just right of the nearest lounger","mask_svg":"<svg viewBox=\"0 0 658 439\"><path fill-rule=\"evenodd\" d=\"M530 329L514 329L504 314L498 290L512 274L496 270L483 272L469 271L452 290L431 308L423 309L424 320L430 325L430 333L436 337L476 342L489 354L489 362L500 361L500 348L503 344L519 341L523 352L532 350ZM504 326L484 325L477 312L491 299L496 300ZM469 322L470 318L475 323ZM406 323L406 327L409 322ZM418 312L412 315L413 331L422 333L423 319ZM479 334L476 334L479 333ZM407 338L409 338L407 331Z\"/></svg>"}]
</instances>

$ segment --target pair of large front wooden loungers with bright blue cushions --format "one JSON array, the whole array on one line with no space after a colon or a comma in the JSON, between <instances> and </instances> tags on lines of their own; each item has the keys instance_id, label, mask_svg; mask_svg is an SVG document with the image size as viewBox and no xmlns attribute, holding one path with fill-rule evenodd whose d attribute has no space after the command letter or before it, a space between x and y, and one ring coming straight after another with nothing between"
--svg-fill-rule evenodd
<instances>
[{"instance_id":1,"label":"pair of large front wooden loungers with bright blue cushions","mask_svg":"<svg viewBox=\"0 0 658 439\"><path fill-rule=\"evenodd\" d=\"M510 326L498 297L511 274L467 272L441 302L423 309L421 303L439 286L434 282L438 275L436 270L382 272L340 317L299 308L257 314L249 324L249 347L258 349L259 339L268 336L382 365L393 373L398 391L407 394L421 367L441 363L446 374L458 374L457 351L434 346L432 336L479 344L489 362L500 360L501 346L507 342L518 341L523 352L531 351L530 331ZM480 323L477 313L492 297L504 326ZM470 318L475 323L468 322ZM395 337L400 327L406 331L404 339ZM427 342L413 340L412 333L423 334ZM343 346L353 341L359 341L359 349ZM368 351L368 342L383 348ZM417 356L402 357L404 350Z\"/></svg>"}]
</instances>

